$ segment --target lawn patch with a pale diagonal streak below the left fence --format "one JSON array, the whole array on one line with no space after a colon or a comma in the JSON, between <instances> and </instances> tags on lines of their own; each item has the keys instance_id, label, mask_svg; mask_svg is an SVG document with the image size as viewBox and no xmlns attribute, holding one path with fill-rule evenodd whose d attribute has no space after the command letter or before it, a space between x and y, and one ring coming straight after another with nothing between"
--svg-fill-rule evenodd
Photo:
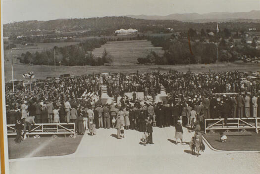
<instances>
[{"instance_id":1,"label":"lawn patch with a pale diagonal streak below the left fence","mask_svg":"<svg viewBox=\"0 0 260 174\"><path fill-rule=\"evenodd\" d=\"M9 159L72 154L78 148L82 136L76 135L76 138L61 135L57 138L51 136L34 138L30 136L19 144L14 142L15 137L10 137L8 138Z\"/></svg>"}]
</instances>

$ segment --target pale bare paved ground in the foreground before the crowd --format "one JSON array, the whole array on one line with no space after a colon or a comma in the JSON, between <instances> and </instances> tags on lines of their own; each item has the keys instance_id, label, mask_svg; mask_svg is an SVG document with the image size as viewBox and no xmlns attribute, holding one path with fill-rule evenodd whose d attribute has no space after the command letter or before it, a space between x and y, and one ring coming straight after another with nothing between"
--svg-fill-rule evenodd
<instances>
[{"instance_id":1,"label":"pale bare paved ground in the foreground before the crowd","mask_svg":"<svg viewBox=\"0 0 260 174\"><path fill-rule=\"evenodd\" d=\"M84 135L77 151L68 156L11 160L10 174L259 174L260 153L215 152L206 146L201 156L189 145L175 145L175 129L154 128L155 144L140 145L142 133L126 130L116 139L115 129ZM184 141L194 133L184 129Z\"/></svg>"}]
</instances>

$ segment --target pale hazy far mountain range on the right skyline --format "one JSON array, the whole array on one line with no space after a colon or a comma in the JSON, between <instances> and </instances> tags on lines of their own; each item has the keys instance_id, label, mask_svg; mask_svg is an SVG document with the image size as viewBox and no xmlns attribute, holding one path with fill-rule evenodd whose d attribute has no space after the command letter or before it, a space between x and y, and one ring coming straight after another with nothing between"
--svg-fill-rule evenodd
<instances>
[{"instance_id":1,"label":"pale hazy far mountain range on the right skyline","mask_svg":"<svg viewBox=\"0 0 260 174\"><path fill-rule=\"evenodd\" d=\"M254 19L260 20L260 10L253 10L250 12L211 12L205 14L198 13L185 13L185 14L170 14L167 16L148 16L148 15L127 15L136 19L147 20L178 20L185 22L217 22L217 21L230 21L234 19Z\"/></svg>"}]
</instances>

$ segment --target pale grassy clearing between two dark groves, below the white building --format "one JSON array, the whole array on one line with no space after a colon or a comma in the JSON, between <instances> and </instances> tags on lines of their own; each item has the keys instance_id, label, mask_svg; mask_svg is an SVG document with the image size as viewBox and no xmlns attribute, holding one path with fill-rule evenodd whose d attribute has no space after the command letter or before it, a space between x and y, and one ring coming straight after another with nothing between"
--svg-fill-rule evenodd
<instances>
[{"instance_id":1,"label":"pale grassy clearing between two dark groves, below the white building","mask_svg":"<svg viewBox=\"0 0 260 174\"><path fill-rule=\"evenodd\" d=\"M150 41L118 41L118 42L107 42L100 48L96 48L92 51L95 56L101 57L105 50L110 53L113 57L114 65L129 65L136 64L137 58L145 57L150 51L155 51L158 55L163 54L161 47L154 47Z\"/></svg>"}]
</instances>

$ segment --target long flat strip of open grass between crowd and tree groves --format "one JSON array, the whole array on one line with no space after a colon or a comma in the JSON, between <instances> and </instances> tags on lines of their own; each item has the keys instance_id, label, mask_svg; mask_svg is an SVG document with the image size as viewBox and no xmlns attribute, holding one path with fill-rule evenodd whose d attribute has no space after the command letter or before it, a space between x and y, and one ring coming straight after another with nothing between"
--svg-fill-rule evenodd
<instances>
[{"instance_id":1,"label":"long flat strip of open grass between crowd and tree groves","mask_svg":"<svg viewBox=\"0 0 260 174\"><path fill-rule=\"evenodd\" d=\"M47 65L23 65L15 63L13 66L14 79L23 79L22 74L28 71L33 71L35 73L35 79L46 79L46 77L59 77L61 74L70 75L86 75L94 73L131 73L139 70L142 72L155 72L159 70L160 72L168 72L170 69L177 70L180 72L187 72L188 69L192 72L212 72L216 71L259 71L259 64L254 63L243 63L242 61L233 63L220 63L217 64L192 64L192 65L112 65L112 66L56 66L56 71L54 71L54 66ZM5 82L12 79L11 64L7 62L4 64L4 77Z\"/></svg>"}]
</instances>

